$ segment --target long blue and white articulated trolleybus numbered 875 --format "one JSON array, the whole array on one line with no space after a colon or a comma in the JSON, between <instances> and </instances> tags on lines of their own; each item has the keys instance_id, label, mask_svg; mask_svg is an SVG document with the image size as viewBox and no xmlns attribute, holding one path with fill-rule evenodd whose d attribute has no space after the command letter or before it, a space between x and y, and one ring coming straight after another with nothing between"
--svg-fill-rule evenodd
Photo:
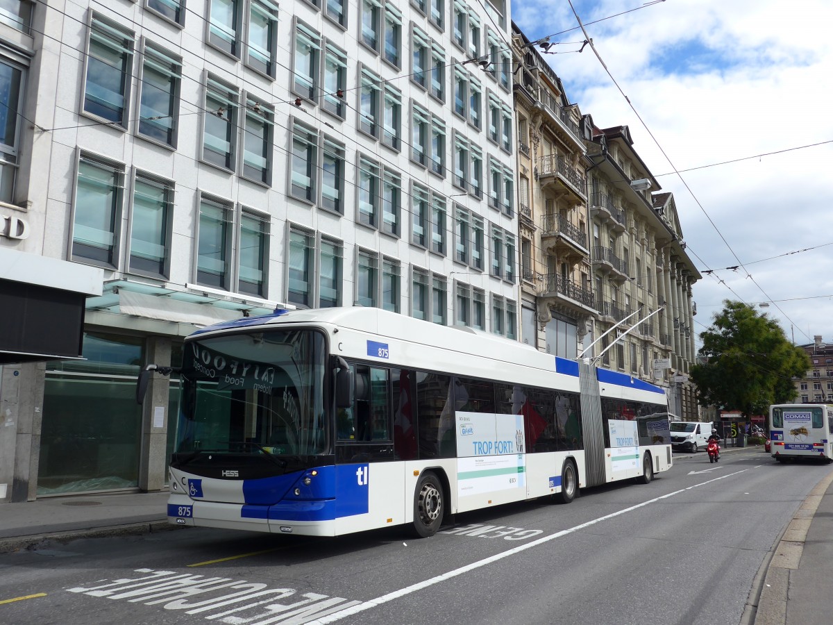
<instances>
[{"instance_id":1,"label":"long blue and white articulated trolleybus numbered 875","mask_svg":"<svg viewBox=\"0 0 833 625\"><path fill-rule=\"evenodd\" d=\"M167 506L180 525L427 537L456 512L671 468L661 388L486 333L277 310L199 330L183 354Z\"/></svg>"}]
</instances>

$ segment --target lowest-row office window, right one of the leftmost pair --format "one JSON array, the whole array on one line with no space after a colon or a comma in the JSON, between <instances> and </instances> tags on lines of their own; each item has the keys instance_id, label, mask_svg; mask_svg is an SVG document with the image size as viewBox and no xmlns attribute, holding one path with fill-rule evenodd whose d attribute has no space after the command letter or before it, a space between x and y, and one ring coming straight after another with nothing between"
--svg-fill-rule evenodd
<instances>
[{"instance_id":1,"label":"lowest-row office window, right one of the leftmost pair","mask_svg":"<svg viewBox=\"0 0 833 625\"><path fill-rule=\"evenodd\" d=\"M133 183L130 270L167 277L173 185L142 173Z\"/></svg>"}]
</instances>

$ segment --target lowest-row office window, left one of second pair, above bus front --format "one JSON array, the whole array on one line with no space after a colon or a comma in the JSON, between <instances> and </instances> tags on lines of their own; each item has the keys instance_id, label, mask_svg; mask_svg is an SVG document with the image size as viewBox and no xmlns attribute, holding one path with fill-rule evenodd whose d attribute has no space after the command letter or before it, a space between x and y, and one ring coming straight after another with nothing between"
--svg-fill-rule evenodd
<instances>
[{"instance_id":1,"label":"lowest-row office window, left one of second pair, above bus front","mask_svg":"<svg viewBox=\"0 0 833 625\"><path fill-rule=\"evenodd\" d=\"M228 288L231 207L203 198L197 242L197 283Z\"/></svg>"}]
</instances>

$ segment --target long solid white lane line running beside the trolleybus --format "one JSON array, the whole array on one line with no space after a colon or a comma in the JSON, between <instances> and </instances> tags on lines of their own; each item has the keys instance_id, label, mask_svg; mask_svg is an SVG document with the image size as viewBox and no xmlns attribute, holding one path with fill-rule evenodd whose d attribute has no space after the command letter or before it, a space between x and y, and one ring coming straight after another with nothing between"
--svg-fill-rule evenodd
<instances>
[{"instance_id":1,"label":"long solid white lane line running beside the trolleybus","mask_svg":"<svg viewBox=\"0 0 833 625\"><path fill-rule=\"evenodd\" d=\"M738 475L746 471L749 471L749 469L741 469L741 471L736 471L735 473L727 473L726 475L721 475L720 478L706 480L706 482L701 482L699 484L694 484L693 486L681 488L678 491L674 491L673 493L668 493L666 495L661 495L657 498L649 499L646 502L637 503L636 506L626 507L618 512L606 514L604 517L594 518L592 521L581 523L581 525L576 525L576 527L561 530L561 532L556 532L554 534L550 534L549 536L538 538L537 540L534 540L532 542L526 542L523 545L518 545L517 547L507 549L505 552L496 553L493 556L485 557L482 560L478 560L477 562L471 562L471 564L466 564L465 567L455 568L453 571L442 573L442 575L437 575L436 577L431 577L431 579L426 579L424 582L417 582L415 584L412 584L411 586L400 588L399 590L395 590L393 592L388 592L386 595L382 595L382 597L377 597L375 599L371 599L370 601L358 603L357 605L354 605L352 607L347 607L338 612L333 612L332 614L326 617L319 618L317 621L310 621L307 623L307 625L325 625L325 623L328 622L340 621L342 618L351 617L354 614L364 612L365 610L369 610L372 607L380 606L382 605L382 603L393 601L394 599L398 599L399 597L405 597L405 595L409 595L412 592L416 592L417 590L422 590L423 588L433 586L440 582L445 582L446 579L451 579L451 577L457 577L459 575L462 575L463 573L473 571L476 568L485 567L486 564L497 562L498 560L502 560L505 557L514 556L516 553L526 551L526 549L531 549L532 547L537 547L538 545L541 545L545 542L550 542L551 540L555 540L556 538L560 538L562 536L566 536L567 534L571 534L572 532L578 532L579 530L584 529L585 527L596 525L596 523L606 521L609 518L618 517L621 514L625 514L626 512L632 512L637 508L645 507L651 503L656 503L663 499L674 497L675 495L679 495L680 493L685 493L686 491L690 491L692 488L699 488L701 486L705 486L706 484L717 482L718 480L731 478L733 475Z\"/></svg>"}]
</instances>

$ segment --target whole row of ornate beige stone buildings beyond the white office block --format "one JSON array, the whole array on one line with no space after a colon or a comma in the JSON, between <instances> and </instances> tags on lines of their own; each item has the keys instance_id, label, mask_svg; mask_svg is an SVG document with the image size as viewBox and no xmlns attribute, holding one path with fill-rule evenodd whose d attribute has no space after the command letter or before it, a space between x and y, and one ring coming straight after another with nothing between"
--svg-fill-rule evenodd
<instances>
[{"instance_id":1,"label":"whole row of ornate beige stone buildings beyond the white office block","mask_svg":"<svg viewBox=\"0 0 833 625\"><path fill-rule=\"evenodd\" d=\"M565 358L595 342L586 356L668 387L672 412L696 420L687 375L701 276L674 198L626 126L597 128L569 102L543 56L549 42L513 24L512 44L521 339Z\"/></svg>"}]
</instances>

